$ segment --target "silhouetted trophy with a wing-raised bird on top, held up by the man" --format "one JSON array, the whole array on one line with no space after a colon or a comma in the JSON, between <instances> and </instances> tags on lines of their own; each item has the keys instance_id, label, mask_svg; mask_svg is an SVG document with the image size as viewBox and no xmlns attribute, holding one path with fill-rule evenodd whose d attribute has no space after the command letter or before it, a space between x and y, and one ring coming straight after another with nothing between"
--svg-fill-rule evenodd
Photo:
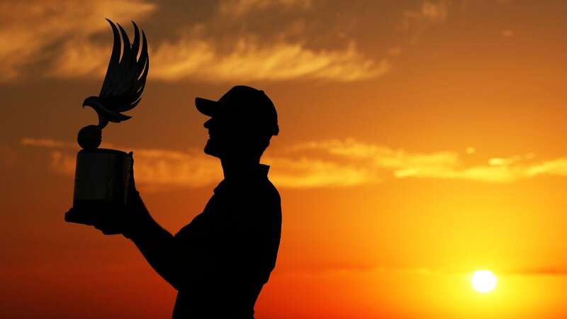
<instances>
[{"instance_id":1,"label":"silhouetted trophy with a wing-raised bird on top, held up by the man","mask_svg":"<svg viewBox=\"0 0 567 319\"><path fill-rule=\"evenodd\" d=\"M111 25L114 44L101 93L83 102L83 107L94 108L99 124L85 126L77 136L82 148L77 153L74 181L73 208L77 209L65 215L65 220L71 223L93 225L96 214L124 206L128 201L130 156L119 150L97 147L101 145L102 129L108 122L128 120L130 116L121 112L129 111L140 103L150 59L144 31L140 47L140 30L134 21L132 44L120 24L116 23L117 28L112 21L106 21Z\"/></svg>"}]
</instances>

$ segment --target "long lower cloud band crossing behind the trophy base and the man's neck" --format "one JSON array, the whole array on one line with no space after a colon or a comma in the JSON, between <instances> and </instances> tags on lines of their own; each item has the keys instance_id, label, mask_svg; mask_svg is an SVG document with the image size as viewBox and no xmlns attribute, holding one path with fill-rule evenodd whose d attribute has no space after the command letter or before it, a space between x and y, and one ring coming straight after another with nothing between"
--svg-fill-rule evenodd
<instances>
[{"instance_id":1,"label":"long lower cloud band crossing behind the trophy base and the man's neck","mask_svg":"<svg viewBox=\"0 0 567 319\"><path fill-rule=\"evenodd\" d=\"M70 150L76 147L71 143L24 138L21 144L50 150L51 169L74 174L75 155ZM134 152L136 177L142 184L197 187L222 178L218 160L201 150L140 148ZM534 155L527 154L466 165L458 152L407 152L352 139L301 143L264 157L264 162L271 164L271 179L290 188L348 187L409 178L510 183L541 175L567 177L567 157L534 162Z\"/></svg>"}]
</instances>

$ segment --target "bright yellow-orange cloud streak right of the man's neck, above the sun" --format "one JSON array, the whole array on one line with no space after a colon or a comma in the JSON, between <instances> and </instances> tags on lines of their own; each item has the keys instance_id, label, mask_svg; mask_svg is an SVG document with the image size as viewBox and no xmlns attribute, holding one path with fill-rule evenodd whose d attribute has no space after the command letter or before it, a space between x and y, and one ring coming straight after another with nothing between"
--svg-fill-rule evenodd
<instances>
[{"instance_id":1,"label":"bright yellow-orange cloud streak right of the man's neck, above the sun","mask_svg":"<svg viewBox=\"0 0 567 319\"><path fill-rule=\"evenodd\" d=\"M466 166L457 152L411 153L357 140L327 140L296 145L293 151L316 150L357 163L371 172L391 172L398 179L466 179L506 183L539 175L567 176L567 159L532 163L533 154L493 157L488 164ZM346 161L345 161L346 159Z\"/></svg>"}]
</instances>

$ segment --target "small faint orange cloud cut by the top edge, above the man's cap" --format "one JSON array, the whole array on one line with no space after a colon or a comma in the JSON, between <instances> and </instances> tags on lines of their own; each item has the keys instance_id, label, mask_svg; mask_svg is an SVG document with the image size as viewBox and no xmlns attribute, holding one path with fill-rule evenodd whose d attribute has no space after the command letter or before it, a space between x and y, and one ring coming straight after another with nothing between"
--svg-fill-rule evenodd
<instances>
[{"instance_id":1,"label":"small faint orange cloud cut by the top edge, above the man's cap","mask_svg":"<svg viewBox=\"0 0 567 319\"><path fill-rule=\"evenodd\" d=\"M224 0L220 2L219 12L225 16L243 16L254 9L269 9L275 6L308 9L311 0Z\"/></svg>"}]
</instances>

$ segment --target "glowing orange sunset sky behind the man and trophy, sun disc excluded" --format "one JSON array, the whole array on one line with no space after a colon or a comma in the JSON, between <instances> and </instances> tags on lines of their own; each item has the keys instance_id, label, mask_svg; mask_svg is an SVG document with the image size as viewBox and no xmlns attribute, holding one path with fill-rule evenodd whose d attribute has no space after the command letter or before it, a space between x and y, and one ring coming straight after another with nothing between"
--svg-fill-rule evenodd
<instances>
[{"instance_id":1,"label":"glowing orange sunset sky behind the man and trophy, sun disc excluded","mask_svg":"<svg viewBox=\"0 0 567 319\"><path fill-rule=\"evenodd\" d=\"M350 2L1 3L1 317L171 315L131 242L63 221L111 18L145 30L152 67L103 146L135 152L172 232L222 178L194 98L247 84L278 108L283 234L257 318L566 318L567 4Z\"/></svg>"}]
</instances>

